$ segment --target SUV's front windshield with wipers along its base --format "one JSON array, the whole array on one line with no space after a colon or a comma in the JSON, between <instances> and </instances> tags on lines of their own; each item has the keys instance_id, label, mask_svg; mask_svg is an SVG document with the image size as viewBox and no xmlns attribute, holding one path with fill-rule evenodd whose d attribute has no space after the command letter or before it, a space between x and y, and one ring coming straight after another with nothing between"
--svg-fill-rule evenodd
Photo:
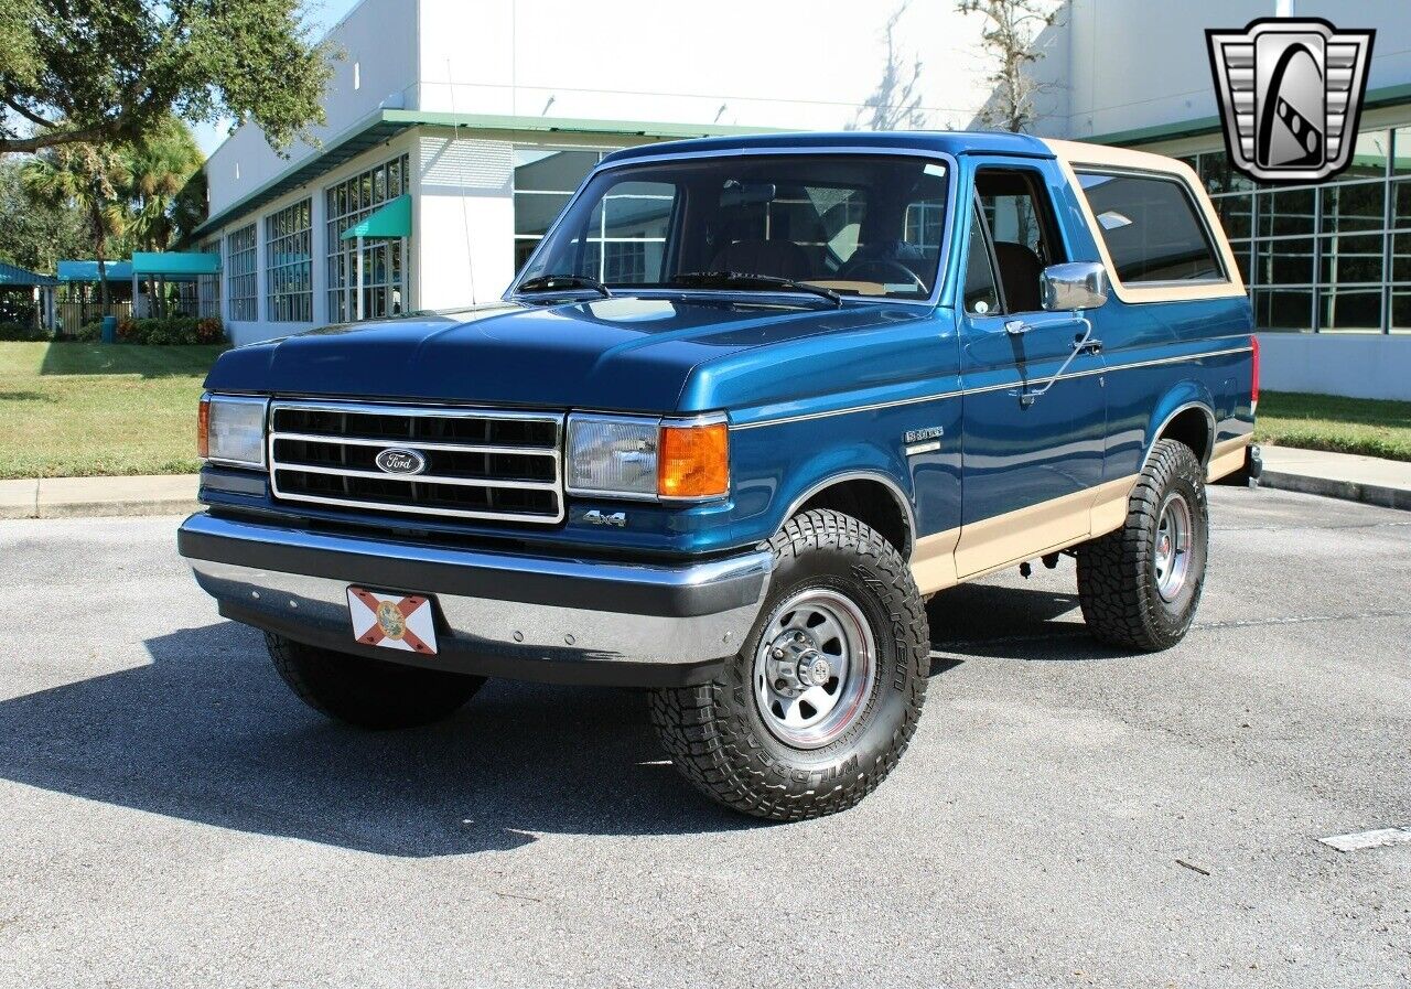
<instances>
[{"instance_id":1,"label":"SUV's front windshield with wipers along its base","mask_svg":"<svg viewBox=\"0 0 1411 989\"><path fill-rule=\"evenodd\" d=\"M756 275L845 296L927 299L945 229L947 168L896 155L756 155L594 175L518 284L610 289L751 286ZM714 277L714 278L710 278Z\"/></svg>"}]
</instances>

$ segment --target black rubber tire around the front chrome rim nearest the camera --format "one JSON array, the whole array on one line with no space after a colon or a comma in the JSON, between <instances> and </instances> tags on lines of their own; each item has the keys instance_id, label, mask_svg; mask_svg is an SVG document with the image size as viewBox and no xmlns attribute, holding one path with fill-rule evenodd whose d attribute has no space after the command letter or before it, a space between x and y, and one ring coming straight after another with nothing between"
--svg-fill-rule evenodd
<instances>
[{"instance_id":1,"label":"black rubber tire around the front chrome rim nearest the camera","mask_svg":"<svg viewBox=\"0 0 1411 989\"><path fill-rule=\"evenodd\" d=\"M676 767L713 800L753 817L799 821L852 807L892 772L916 731L931 636L912 570L858 519L820 509L770 540L775 570L759 619L721 676L652 693L652 722ZM834 741L797 748L777 738L756 700L756 652L780 605L800 591L845 595L865 617L876 676Z\"/></svg>"}]
</instances>

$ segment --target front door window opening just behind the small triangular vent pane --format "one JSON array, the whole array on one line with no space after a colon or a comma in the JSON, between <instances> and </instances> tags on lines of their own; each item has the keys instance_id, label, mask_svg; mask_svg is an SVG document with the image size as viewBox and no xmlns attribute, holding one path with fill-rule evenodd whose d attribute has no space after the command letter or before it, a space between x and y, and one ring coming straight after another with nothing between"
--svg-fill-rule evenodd
<instances>
[{"instance_id":1,"label":"front door window opening just behind the small triangular vent pane","mask_svg":"<svg viewBox=\"0 0 1411 989\"><path fill-rule=\"evenodd\" d=\"M993 238L1009 312L1041 309L1038 277L1065 257L1040 175L1027 168L982 168L975 174L975 195Z\"/></svg>"}]
</instances>

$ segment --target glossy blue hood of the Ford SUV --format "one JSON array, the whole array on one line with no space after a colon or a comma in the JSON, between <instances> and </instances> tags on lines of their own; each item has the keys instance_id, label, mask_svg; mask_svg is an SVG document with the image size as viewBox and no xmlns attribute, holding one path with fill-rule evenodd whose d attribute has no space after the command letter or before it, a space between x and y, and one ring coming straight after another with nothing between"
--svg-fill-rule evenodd
<instances>
[{"instance_id":1,"label":"glossy blue hood of the Ford SUV","mask_svg":"<svg viewBox=\"0 0 1411 989\"><path fill-rule=\"evenodd\" d=\"M330 326L226 351L212 391L669 412L700 364L876 324L888 306L614 296Z\"/></svg>"}]
</instances>

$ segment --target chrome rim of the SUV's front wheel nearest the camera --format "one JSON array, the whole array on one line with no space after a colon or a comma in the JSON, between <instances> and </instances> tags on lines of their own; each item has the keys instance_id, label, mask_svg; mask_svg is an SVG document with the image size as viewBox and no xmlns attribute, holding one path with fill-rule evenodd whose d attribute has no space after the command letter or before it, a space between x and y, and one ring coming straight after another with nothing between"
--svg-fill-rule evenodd
<instances>
[{"instance_id":1,"label":"chrome rim of the SUV's front wheel nearest the camera","mask_svg":"<svg viewBox=\"0 0 1411 989\"><path fill-rule=\"evenodd\" d=\"M810 588L773 611L755 653L755 701L779 741L817 749L856 720L876 676L866 617L838 591Z\"/></svg>"}]
</instances>

